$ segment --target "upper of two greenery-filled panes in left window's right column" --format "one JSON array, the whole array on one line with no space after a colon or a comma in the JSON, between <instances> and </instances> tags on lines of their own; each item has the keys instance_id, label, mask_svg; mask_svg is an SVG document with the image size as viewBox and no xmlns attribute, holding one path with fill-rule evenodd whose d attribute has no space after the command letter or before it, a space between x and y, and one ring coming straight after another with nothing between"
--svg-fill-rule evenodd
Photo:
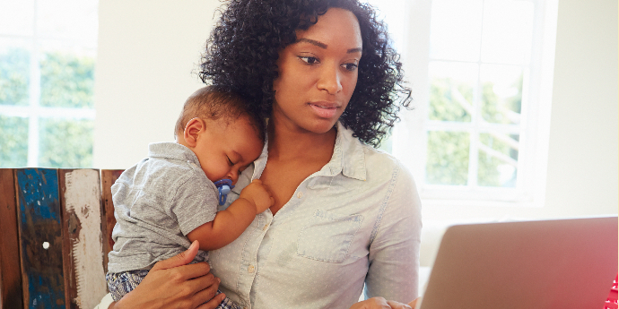
<instances>
[{"instance_id":1,"label":"upper of two greenery-filled panes in left window's right column","mask_svg":"<svg viewBox=\"0 0 619 309\"><path fill-rule=\"evenodd\" d=\"M40 73L41 106L94 107L94 56L64 48L46 48Z\"/></svg>"}]
</instances>

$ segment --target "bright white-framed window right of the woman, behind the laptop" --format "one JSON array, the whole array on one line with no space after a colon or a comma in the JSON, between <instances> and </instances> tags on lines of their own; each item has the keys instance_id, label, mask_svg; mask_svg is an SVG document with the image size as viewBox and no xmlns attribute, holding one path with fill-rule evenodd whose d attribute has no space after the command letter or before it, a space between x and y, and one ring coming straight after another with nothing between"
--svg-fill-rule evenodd
<instances>
[{"instance_id":1,"label":"bright white-framed window right of the woman, behind the laptop","mask_svg":"<svg viewBox=\"0 0 619 309\"><path fill-rule=\"evenodd\" d=\"M424 202L544 202L556 0L371 3L414 97L384 147Z\"/></svg>"}]
</instances>

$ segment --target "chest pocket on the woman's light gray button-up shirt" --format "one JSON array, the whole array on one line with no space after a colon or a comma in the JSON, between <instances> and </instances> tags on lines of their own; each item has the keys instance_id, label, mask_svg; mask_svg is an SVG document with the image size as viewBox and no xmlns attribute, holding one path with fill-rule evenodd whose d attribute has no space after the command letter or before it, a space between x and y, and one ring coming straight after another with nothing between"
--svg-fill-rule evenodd
<instances>
[{"instance_id":1,"label":"chest pocket on the woman's light gray button-up shirt","mask_svg":"<svg viewBox=\"0 0 619 309\"><path fill-rule=\"evenodd\" d=\"M344 262L362 221L362 215L316 210L299 233L297 255L323 262Z\"/></svg>"}]
</instances>

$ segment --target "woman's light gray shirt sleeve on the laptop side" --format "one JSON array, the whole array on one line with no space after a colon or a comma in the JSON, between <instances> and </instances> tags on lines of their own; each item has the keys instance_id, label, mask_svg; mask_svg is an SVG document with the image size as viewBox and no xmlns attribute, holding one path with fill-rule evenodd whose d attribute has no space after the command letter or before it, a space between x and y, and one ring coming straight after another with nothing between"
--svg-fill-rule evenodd
<instances>
[{"instance_id":1,"label":"woman's light gray shirt sleeve on the laptop side","mask_svg":"<svg viewBox=\"0 0 619 309\"><path fill-rule=\"evenodd\" d=\"M396 185L370 245L365 293L406 304L418 296L422 213L413 176L396 168Z\"/></svg>"}]
</instances>

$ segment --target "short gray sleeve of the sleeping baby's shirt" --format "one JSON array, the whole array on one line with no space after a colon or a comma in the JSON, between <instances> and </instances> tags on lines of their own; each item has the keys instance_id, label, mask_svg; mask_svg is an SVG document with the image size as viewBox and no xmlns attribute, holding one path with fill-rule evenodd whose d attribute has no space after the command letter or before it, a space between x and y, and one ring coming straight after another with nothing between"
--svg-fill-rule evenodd
<instances>
[{"instance_id":1,"label":"short gray sleeve of the sleeping baby's shirt","mask_svg":"<svg viewBox=\"0 0 619 309\"><path fill-rule=\"evenodd\" d=\"M204 179L203 179L204 178ZM179 186L171 203L171 213L179 222L180 231L187 236L191 231L215 219L219 196L213 183L206 177L190 177Z\"/></svg>"}]
</instances>

